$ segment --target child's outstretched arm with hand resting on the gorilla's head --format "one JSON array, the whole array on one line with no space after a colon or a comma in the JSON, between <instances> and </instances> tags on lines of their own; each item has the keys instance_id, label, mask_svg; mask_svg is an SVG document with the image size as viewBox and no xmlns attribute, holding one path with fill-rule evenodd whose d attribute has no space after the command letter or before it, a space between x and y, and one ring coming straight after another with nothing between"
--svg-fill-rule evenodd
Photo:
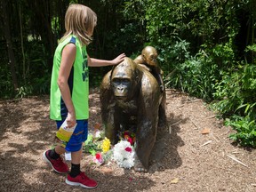
<instances>
[{"instance_id":1,"label":"child's outstretched arm with hand resting on the gorilla's head","mask_svg":"<svg viewBox=\"0 0 256 192\"><path fill-rule=\"evenodd\" d=\"M117 65L124 60L125 54L122 53L118 55L114 60L98 60L90 58L88 55L88 66L89 67L103 67L103 66L112 66Z\"/></svg>"}]
</instances>

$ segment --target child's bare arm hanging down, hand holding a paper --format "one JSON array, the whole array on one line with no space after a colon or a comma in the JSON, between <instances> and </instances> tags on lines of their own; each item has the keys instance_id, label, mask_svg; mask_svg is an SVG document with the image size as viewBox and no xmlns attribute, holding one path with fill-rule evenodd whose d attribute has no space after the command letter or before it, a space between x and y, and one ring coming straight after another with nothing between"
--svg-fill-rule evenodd
<instances>
[{"instance_id":1,"label":"child's bare arm hanging down, hand holding a paper","mask_svg":"<svg viewBox=\"0 0 256 192\"><path fill-rule=\"evenodd\" d=\"M62 58L60 62L60 72L58 76L58 85L60 88L62 99L68 108L67 124L68 127L75 126L76 112L71 100L71 94L68 86L68 76L76 59L76 45L67 44L62 51Z\"/></svg>"}]
</instances>

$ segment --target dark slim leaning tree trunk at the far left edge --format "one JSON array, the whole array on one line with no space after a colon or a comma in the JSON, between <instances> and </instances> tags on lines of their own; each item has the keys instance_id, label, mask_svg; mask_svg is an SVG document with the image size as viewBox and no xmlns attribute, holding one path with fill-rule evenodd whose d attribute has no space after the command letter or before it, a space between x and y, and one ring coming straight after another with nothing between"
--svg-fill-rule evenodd
<instances>
[{"instance_id":1,"label":"dark slim leaning tree trunk at the far left edge","mask_svg":"<svg viewBox=\"0 0 256 192\"><path fill-rule=\"evenodd\" d=\"M10 64L10 69L11 69L11 74L12 74L12 85L15 90L18 89L18 81L17 81L17 76L16 76L16 60L14 56L14 52L12 49L12 38L10 34L10 23L9 23L9 18L8 18L8 13L7 13L7 1L1 0L0 1L0 10L3 15L4 19L4 37L6 39L6 45L7 45L7 50L8 50L8 57L9 57L9 64Z\"/></svg>"}]
</instances>

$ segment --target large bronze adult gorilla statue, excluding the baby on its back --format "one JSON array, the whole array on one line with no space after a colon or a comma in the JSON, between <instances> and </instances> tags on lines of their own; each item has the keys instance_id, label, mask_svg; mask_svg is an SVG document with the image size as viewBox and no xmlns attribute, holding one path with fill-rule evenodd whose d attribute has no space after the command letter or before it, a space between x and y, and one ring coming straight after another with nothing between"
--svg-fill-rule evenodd
<instances>
[{"instance_id":1,"label":"large bronze adult gorilla statue, excluding the baby on its back","mask_svg":"<svg viewBox=\"0 0 256 192\"><path fill-rule=\"evenodd\" d=\"M122 130L136 134L135 172L148 172L158 120L165 121L164 98L156 78L127 57L100 84L102 123L111 144L117 143Z\"/></svg>"}]
</instances>

